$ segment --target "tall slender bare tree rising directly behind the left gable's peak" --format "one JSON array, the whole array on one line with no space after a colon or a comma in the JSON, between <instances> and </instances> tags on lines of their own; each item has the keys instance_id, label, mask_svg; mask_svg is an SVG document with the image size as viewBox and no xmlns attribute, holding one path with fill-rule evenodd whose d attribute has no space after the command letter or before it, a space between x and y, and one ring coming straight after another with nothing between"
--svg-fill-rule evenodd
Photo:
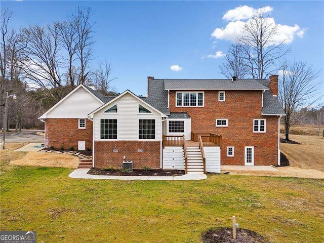
<instances>
[{"instance_id":1,"label":"tall slender bare tree rising directly behind the left gable's peak","mask_svg":"<svg viewBox=\"0 0 324 243\"><path fill-rule=\"evenodd\" d=\"M78 85L84 84L89 76L89 62L93 57L93 25L91 22L92 9L78 9L72 16L72 25L76 31L74 40L78 59Z\"/></svg>"}]
</instances>

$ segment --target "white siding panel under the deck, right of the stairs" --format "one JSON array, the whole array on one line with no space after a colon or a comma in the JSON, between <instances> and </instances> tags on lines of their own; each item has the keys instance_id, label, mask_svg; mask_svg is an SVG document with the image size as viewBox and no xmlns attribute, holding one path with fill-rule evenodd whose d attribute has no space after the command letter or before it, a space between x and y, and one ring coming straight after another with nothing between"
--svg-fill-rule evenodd
<instances>
[{"instance_id":1,"label":"white siding panel under the deck, right of the stairs","mask_svg":"<svg viewBox=\"0 0 324 243\"><path fill-rule=\"evenodd\" d=\"M204 147L206 171L221 173L221 150L219 147Z\"/></svg>"}]
</instances>

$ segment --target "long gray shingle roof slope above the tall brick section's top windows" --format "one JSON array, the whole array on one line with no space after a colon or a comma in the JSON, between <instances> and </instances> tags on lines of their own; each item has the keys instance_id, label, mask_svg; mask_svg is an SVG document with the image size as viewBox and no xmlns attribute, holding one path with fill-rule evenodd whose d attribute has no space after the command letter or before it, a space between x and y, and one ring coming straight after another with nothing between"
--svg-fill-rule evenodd
<instances>
[{"instance_id":1,"label":"long gray shingle roof slope above the tall brick section's top windows","mask_svg":"<svg viewBox=\"0 0 324 243\"><path fill-rule=\"evenodd\" d=\"M166 90L264 90L257 79L164 79Z\"/></svg>"}]
</instances>

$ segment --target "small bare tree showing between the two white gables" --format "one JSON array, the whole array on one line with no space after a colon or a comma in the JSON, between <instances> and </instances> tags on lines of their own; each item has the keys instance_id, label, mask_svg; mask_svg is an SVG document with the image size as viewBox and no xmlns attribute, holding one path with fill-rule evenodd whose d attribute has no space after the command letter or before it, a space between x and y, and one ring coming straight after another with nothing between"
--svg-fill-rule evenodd
<instances>
[{"instance_id":1,"label":"small bare tree showing between the two white gables","mask_svg":"<svg viewBox=\"0 0 324 243\"><path fill-rule=\"evenodd\" d=\"M110 83L116 79L111 77L112 69L110 63L101 63L99 68L92 74L92 82L97 87L97 91L107 96L111 89Z\"/></svg>"}]
</instances>

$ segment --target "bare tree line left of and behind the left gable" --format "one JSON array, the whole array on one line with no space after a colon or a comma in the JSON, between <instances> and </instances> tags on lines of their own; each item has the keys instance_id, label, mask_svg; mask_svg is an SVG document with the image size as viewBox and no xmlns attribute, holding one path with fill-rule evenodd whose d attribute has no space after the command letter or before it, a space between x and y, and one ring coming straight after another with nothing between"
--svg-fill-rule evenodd
<instances>
[{"instance_id":1,"label":"bare tree line left of and behind the left gable","mask_svg":"<svg viewBox=\"0 0 324 243\"><path fill-rule=\"evenodd\" d=\"M0 23L0 124L6 92L9 128L43 128L37 117L61 100L75 86L93 84L104 95L111 91L111 64L93 68L94 25L91 8L78 8L65 20L45 26L12 27L14 13L1 9Z\"/></svg>"}]
</instances>

